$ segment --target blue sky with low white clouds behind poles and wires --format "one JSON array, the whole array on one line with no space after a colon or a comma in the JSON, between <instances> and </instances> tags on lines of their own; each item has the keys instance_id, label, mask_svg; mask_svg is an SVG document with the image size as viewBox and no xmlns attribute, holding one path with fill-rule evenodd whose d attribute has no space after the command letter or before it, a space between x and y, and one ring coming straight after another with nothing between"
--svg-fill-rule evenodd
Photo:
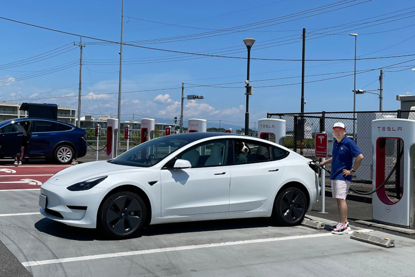
<instances>
[{"instance_id":1,"label":"blue sky with low white clouds behind poles and wires","mask_svg":"<svg viewBox=\"0 0 415 277\"><path fill-rule=\"evenodd\" d=\"M117 42L121 0L6 1L0 17ZM357 74L356 87L372 92L356 95L356 110L379 110L374 94L379 68L385 70L384 110L396 110L397 94L415 93L415 56L360 59L415 55L414 18L415 4L409 0L125 0L123 41L135 46L123 46L121 120L132 120L134 114L136 121L151 117L172 123L180 115L184 82L185 95L205 96L184 100L184 119L243 126L247 52L242 40L248 36L256 39L250 126L267 112L299 112L301 62L276 60L301 60L302 28L307 31L306 60L351 59L306 61L305 112L353 111L355 40L349 33L358 34L357 72L363 72ZM0 100L77 109L80 49L73 42L79 43L79 36L4 19L0 26ZM82 42L81 115L117 115L119 45ZM339 78L318 81L333 77Z\"/></svg>"}]
</instances>

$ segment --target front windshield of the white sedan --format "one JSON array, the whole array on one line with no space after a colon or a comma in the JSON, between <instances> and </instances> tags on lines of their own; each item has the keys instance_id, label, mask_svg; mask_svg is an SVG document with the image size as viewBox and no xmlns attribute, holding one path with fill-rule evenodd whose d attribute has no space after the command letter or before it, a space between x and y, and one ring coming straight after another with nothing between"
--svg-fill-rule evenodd
<instances>
[{"instance_id":1,"label":"front windshield of the white sedan","mask_svg":"<svg viewBox=\"0 0 415 277\"><path fill-rule=\"evenodd\" d=\"M121 165L149 167L175 152L192 140L164 136L142 143L109 162Z\"/></svg>"}]
</instances>

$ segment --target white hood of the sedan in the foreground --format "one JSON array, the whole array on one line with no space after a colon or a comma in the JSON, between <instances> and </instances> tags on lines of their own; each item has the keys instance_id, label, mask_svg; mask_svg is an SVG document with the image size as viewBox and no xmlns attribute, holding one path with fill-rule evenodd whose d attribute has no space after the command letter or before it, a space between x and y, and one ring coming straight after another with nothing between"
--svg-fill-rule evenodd
<instances>
[{"instance_id":1,"label":"white hood of the sedan in the foreground","mask_svg":"<svg viewBox=\"0 0 415 277\"><path fill-rule=\"evenodd\" d=\"M74 185L93 178L114 175L121 171L123 173L126 171L148 171L148 168L119 165L107 161L93 161L65 168L52 176L47 182L53 185Z\"/></svg>"}]
</instances>

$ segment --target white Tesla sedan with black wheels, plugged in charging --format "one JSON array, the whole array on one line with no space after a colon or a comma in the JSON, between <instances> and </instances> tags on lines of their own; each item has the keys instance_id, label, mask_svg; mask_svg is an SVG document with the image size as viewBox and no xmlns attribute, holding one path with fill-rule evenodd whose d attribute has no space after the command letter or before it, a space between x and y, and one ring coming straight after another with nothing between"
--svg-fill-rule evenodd
<instances>
[{"instance_id":1,"label":"white Tesla sedan with black wheels, plugged in charging","mask_svg":"<svg viewBox=\"0 0 415 277\"><path fill-rule=\"evenodd\" d=\"M40 213L115 238L146 224L272 217L300 224L319 198L316 166L278 144L225 133L150 140L108 161L59 171L40 189Z\"/></svg>"}]
</instances>

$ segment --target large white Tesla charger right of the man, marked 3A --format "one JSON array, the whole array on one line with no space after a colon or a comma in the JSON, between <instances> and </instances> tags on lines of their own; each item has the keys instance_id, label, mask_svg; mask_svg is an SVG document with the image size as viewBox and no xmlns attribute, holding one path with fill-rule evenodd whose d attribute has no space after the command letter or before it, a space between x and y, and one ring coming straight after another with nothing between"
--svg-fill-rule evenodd
<instances>
[{"instance_id":1,"label":"large white Tesla charger right of the man, marked 3A","mask_svg":"<svg viewBox=\"0 0 415 277\"><path fill-rule=\"evenodd\" d=\"M374 221L415 228L415 121L372 121ZM396 165L396 167L395 167ZM393 169L395 168L395 169ZM393 191L393 194L390 191Z\"/></svg>"}]
</instances>

